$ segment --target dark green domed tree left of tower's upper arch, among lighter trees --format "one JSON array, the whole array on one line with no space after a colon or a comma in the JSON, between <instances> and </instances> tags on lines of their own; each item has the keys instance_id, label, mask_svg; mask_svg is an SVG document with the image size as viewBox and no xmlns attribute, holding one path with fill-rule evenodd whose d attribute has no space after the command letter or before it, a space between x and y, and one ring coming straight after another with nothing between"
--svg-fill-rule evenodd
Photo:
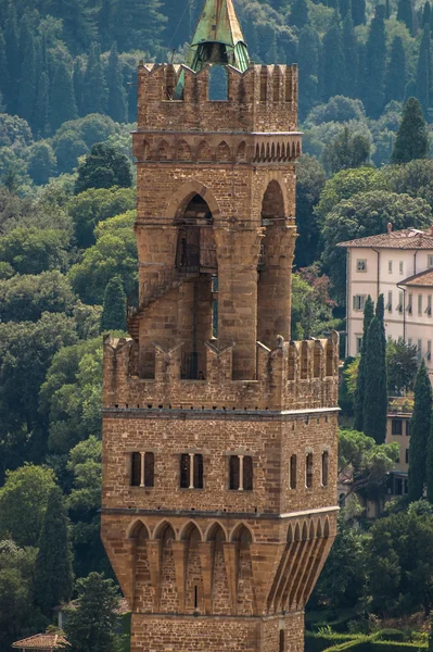
<instances>
[{"instance_id":1,"label":"dark green domed tree left of tower's upper arch, among lighter trees","mask_svg":"<svg viewBox=\"0 0 433 652\"><path fill-rule=\"evenodd\" d=\"M92 147L86 161L79 165L75 193L89 188L130 188L131 185L132 176L127 158L101 142Z\"/></svg>"}]
</instances>

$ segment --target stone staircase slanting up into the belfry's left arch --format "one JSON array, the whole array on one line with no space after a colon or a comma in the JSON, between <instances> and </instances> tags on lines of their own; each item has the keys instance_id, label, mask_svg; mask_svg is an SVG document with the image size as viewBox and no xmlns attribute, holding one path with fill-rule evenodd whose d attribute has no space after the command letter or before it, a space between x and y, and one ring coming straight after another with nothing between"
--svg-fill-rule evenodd
<instances>
[{"instance_id":1,"label":"stone staircase slanting up into the belfry's left arch","mask_svg":"<svg viewBox=\"0 0 433 652\"><path fill-rule=\"evenodd\" d=\"M140 294L143 297L141 304L128 306L128 333L136 341L139 339L140 317L144 310L164 297L170 290L181 286L187 280L198 278L199 272L179 272L176 267L161 267L150 280L143 284Z\"/></svg>"}]
</instances>

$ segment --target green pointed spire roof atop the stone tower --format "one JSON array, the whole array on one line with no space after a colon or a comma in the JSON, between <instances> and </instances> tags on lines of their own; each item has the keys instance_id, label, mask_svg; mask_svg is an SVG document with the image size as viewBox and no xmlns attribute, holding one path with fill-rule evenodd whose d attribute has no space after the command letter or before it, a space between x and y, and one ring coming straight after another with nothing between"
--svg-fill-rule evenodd
<instances>
[{"instance_id":1,"label":"green pointed spire roof atop the stone tower","mask_svg":"<svg viewBox=\"0 0 433 652\"><path fill-rule=\"evenodd\" d=\"M187 64L199 72L206 63L233 65L245 71L249 51L232 0L205 0Z\"/></svg>"}]
</instances>

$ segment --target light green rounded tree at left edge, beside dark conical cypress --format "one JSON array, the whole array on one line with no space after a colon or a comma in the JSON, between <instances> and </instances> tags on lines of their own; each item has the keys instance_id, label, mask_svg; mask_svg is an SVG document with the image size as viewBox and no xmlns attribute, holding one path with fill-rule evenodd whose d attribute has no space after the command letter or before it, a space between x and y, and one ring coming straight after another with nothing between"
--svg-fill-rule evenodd
<instances>
[{"instance_id":1,"label":"light green rounded tree at left edge, beside dark conical cypress","mask_svg":"<svg viewBox=\"0 0 433 652\"><path fill-rule=\"evenodd\" d=\"M0 489L0 539L10 536L18 546L36 546L53 487L51 468L29 464L9 471Z\"/></svg>"}]
</instances>

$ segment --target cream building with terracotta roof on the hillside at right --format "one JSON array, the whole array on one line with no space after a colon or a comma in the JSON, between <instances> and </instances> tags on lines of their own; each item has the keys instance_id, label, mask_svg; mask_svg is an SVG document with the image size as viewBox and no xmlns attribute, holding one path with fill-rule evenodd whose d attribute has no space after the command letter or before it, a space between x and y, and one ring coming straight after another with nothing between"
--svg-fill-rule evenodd
<instances>
[{"instance_id":1,"label":"cream building with terracotta roof on the hillside at right","mask_svg":"<svg viewBox=\"0 0 433 652\"><path fill-rule=\"evenodd\" d=\"M347 249L346 354L355 356L362 340L367 297L385 299L386 336L418 348L433 375L433 234L390 231L342 242Z\"/></svg>"}]
</instances>

